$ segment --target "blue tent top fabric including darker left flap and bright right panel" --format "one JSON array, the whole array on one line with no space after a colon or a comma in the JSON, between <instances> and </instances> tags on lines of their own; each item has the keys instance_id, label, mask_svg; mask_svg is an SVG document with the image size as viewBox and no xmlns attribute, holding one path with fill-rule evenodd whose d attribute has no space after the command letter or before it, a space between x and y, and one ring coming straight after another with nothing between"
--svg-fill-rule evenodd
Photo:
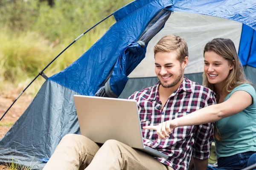
<instances>
[{"instance_id":1,"label":"blue tent top fabric including darker left flap and bright right panel","mask_svg":"<svg viewBox=\"0 0 256 170\"><path fill-rule=\"evenodd\" d=\"M116 11L116 21L152 2L161 3L172 11L226 18L256 29L256 3L252 0L137 0Z\"/></svg>"}]
</instances>

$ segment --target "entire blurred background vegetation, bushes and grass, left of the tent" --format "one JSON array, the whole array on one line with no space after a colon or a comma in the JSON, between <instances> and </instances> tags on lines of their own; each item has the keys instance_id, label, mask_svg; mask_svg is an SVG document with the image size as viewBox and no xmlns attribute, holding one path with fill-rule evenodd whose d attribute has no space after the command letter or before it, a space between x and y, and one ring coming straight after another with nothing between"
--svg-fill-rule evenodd
<instances>
[{"instance_id":1,"label":"entire blurred background vegetation, bushes and grass, left of the tent","mask_svg":"<svg viewBox=\"0 0 256 170\"><path fill-rule=\"evenodd\" d=\"M132 0L0 0L0 89L28 83L81 33ZM85 34L47 68L49 77L66 68L93 45L114 17ZM32 84L36 93L43 78ZM6 84L4 86L3 84ZM22 88L20 87L20 88ZM30 88L31 89L31 88Z\"/></svg>"}]
</instances>

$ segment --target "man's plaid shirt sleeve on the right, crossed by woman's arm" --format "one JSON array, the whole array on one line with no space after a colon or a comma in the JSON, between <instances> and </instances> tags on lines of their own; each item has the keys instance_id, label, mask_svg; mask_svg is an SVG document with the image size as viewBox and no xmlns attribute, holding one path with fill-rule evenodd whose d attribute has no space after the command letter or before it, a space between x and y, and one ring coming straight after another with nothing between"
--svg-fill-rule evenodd
<instances>
[{"instance_id":1,"label":"man's plaid shirt sleeve on the right, crossed by woman's arm","mask_svg":"<svg viewBox=\"0 0 256 170\"><path fill-rule=\"evenodd\" d=\"M204 107L216 104L216 99L211 91ZM214 123L207 123L196 126L195 143L193 145L193 157L197 159L208 159L210 156L210 147L213 140Z\"/></svg>"}]
</instances>

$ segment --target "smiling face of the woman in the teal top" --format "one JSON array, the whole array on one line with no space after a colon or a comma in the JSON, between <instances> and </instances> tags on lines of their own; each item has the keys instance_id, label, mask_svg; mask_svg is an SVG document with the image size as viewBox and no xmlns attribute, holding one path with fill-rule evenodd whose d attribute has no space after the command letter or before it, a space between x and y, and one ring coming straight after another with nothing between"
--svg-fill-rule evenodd
<instances>
[{"instance_id":1,"label":"smiling face of the woman in the teal top","mask_svg":"<svg viewBox=\"0 0 256 170\"><path fill-rule=\"evenodd\" d=\"M224 82L233 66L227 59L221 57L214 51L207 51L204 53L204 74L209 83L219 84Z\"/></svg>"}]
</instances>

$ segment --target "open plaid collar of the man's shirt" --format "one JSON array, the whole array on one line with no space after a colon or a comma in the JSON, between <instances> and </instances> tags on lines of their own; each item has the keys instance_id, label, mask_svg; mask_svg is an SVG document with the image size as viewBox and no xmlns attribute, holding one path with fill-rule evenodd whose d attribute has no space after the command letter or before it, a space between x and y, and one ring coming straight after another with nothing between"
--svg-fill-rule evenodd
<instances>
[{"instance_id":1,"label":"open plaid collar of the man's shirt","mask_svg":"<svg viewBox=\"0 0 256 170\"><path fill-rule=\"evenodd\" d=\"M160 81L158 81L153 88L151 88L150 91L150 95L148 97L148 101L154 101L154 100L159 100L159 91L158 91L158 87L160 85ZM188 78L186 78L185 76L183 77L183 81L180 84L179 88L174 91L174 93L179 93L180 91L186 91L186 92L193 92L193 88L192 88L192 81L190 81Z\"/></svg>"}]
</instances>

